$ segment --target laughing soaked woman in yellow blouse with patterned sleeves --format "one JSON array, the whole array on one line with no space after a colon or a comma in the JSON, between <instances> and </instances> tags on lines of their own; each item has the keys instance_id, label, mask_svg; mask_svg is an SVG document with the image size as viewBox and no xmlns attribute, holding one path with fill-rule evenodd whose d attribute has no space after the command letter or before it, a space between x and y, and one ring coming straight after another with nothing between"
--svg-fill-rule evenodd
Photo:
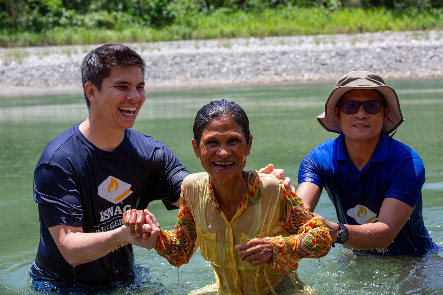
<instances>
[{"instance_id":1,"label":"laughing soaked woman in yellow blouse with patterned sleeves","mask_svg":"<svg viewBox=\"0 0 443 295\"><path fill-rule=\"evenodd\" d=\"M160 230L155 250L180 266L200 245L219 292L303 289L298 261L326 255L329 230L282 180L243 171L251 144L248 117L237 103L214 101L198 111L192 146L206 172L183 180L175 229Z\"/></svg>"}]
</instances>

